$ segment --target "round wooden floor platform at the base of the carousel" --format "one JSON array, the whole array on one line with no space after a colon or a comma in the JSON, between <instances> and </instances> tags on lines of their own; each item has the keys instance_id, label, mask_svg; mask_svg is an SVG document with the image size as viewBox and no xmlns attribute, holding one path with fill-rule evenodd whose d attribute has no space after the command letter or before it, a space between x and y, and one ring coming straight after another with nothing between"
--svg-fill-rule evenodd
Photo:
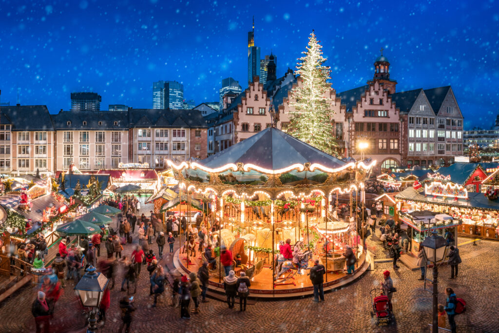
<instances>
[{"instance_id":1,"label":"round wooden floor platform at the base of the carousel","mask_svg":"<svg viewBox=\"0 0 499 333\"><path fill-rule=\"evenodd\" d=\"M202 265L202 260L199 255L197 258L190 257L191 263L189 264L189 267L187 267L186 257L187 254L182 254L181 250L178 250L173 258L175 268L181 274L189 274L191 272L197 273L199 267ZM371 265L371 261L372 258L369 254L362 254L358 261L359 266L353 275L347 275L343 272L328 272L327 282L326 276L324 276L324 292L337 290L355 282L367 272ZM292 299L313 295L313 286L308 277L308 270L305 270L303 275L295 274L293 278L294 279L290 279L284 284L276 283L273 285L272 270L269 269L268 265L264 266L257 276L251 278L250 298L259 300ZM210 277L208 290L213 293L224 294L223 279L220 279L219 282L218 276Z\"/></svg>"}]
</instances>

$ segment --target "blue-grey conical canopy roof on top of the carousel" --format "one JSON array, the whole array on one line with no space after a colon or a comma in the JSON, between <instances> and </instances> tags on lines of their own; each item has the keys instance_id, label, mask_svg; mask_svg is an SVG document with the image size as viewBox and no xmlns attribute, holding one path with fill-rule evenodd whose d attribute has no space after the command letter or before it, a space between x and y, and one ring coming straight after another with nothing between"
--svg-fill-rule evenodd
<instances>
[{"instance_id":1,"label":"blue-grey conical canopy roof on top of the carousel","mask_svg":"<svg viewBox=\"0 0 499 333\"><path fill-rule=\"evenodd\" d=\"M269 170L284 169L306 162L335 169L347 164L273 127L201 160L198 164L216 169L239 162Z\"/></svg>"}]
</instances>

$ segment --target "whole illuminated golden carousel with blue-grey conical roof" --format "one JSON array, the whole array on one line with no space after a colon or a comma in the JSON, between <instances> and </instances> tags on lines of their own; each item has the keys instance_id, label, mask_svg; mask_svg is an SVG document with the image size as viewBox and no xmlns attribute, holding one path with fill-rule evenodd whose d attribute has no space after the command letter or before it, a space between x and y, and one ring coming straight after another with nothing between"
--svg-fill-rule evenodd
<instances>
[{"instance_id":1,"label":"whole illuminated golden carousel with blue-grey conical roof","mask_svg":"<svg viewBox=\"0 0 499 333\"><path fill-rule=\"evenodd\" d=\"M368 262L360 237L328 207L338 194L349 194L351 202L361 205L364 180L374 163L341 161L272 127L201 161L168 161L184 200L189 203L203 195L207 202L199 228L206 227L205 245L212 244L207 256L198 249L196 230L191 233L194 241L182 236L181 244L195 245L196 252L181 248L176 267L197 272L210 261L209 288L220 291L225 273L219 243L231 251L236 275L244 271L250 277L253 297L311 293L307 270L315 259L326 267L325 288L357 277L343 272L342 253L351 246L358 258L357 273L365 271Z\"/></svg>"}]
</instances>

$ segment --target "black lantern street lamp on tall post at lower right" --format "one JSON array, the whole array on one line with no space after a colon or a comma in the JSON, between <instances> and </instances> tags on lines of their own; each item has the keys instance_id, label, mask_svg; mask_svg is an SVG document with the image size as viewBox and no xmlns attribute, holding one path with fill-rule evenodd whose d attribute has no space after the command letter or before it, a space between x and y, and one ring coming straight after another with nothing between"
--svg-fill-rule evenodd
<instances>
[{"instance_id":1,"label":"black lantern street lamp on tall post at lower right","mask_svg":"<svg viewBox=\"0 0 499 333\"><path fill-rule=\"evenodd\" d=\"M433 325L432 332L438 333L438 268L437 263L444 260L447 250L447 241L442 236L438 236L436 231L430 237L425 238L421 243L424 249L425 262L433 264Z\"/></svg>"}]
</instances>

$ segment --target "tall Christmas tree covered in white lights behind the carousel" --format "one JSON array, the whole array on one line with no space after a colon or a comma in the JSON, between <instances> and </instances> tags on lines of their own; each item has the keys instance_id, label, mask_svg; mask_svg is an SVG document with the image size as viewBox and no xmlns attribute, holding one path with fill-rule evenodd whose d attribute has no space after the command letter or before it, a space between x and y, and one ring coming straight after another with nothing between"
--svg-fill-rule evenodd
<instances>
[{"instance_id":1,"label":"tall Christmas tree covered in white lights behind the carousel","mask_svg":"<svg viewBox=\"0 0 499 333\"><path fill-rule=\"evenodd\" d=\"M326 92L331 90L329 66L324 66L326 58L322 56L322 45L312 30L308 38L306 51L299 58L295 75L301 78L301 84L293 88L289 96L290 124L288 133L328 154L336 155L336 142L333 136L330 109L331 100ZM326 95L326 96L325 96Z\"/></svg>"}]
</instances>

